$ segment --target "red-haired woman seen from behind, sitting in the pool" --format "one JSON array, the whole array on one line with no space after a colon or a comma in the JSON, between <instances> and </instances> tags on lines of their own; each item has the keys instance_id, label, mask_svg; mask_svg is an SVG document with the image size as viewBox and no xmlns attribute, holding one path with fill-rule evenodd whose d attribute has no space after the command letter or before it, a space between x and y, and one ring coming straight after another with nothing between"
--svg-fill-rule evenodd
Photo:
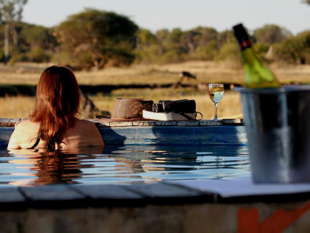
<instances>
[{"instance_id":1,"label":"red-haired woman seen from behind, sitting in the pool","mask_svg":"<svg viewBox=\"0 0 310 233\"><path fill-rule=\"evenodd\" d=\"M67 149L103 146L93 122L77 118L79 88L66 67L52 66L41 74L36 103L29 119L16 125L8 149Z\"/></svg>"}]
</instances>

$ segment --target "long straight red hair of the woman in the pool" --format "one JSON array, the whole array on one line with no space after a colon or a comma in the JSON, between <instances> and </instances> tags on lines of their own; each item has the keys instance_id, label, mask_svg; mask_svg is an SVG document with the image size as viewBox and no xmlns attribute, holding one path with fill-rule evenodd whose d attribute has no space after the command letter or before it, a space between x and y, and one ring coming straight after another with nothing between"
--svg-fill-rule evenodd
<instances>
[{"instance_id":1,"label":"long straight red hair of the woman in the pool","mask_svg":"<svg viewBox=\"0 0 310 233\"><path fill-rule=\"evenodd\" d=\"M36 103L29 118L40 122L41 138L50 144L62 143L63 133L74 126L80 93L73 72L66 67L48 67L41 74Z\"/></svg>"}]
</instances>

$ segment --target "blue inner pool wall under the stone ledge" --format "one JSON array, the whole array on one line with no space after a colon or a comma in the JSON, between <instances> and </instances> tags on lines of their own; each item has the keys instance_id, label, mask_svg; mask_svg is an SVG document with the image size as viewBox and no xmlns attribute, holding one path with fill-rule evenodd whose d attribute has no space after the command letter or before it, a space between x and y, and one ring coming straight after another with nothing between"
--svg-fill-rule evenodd
<instances>
[{"instance_id":1,"label":"blue inner pool wall under the stone ledge","mask_svg":"<svg viewBox=\"0 0 310 233\"><path fill-rule=\"evenodd\" d=\"M244 126L98 127L105 145L247 145ZM14 127L0 127L0 149L7 147Z\"/></svg>"}]
</instances>

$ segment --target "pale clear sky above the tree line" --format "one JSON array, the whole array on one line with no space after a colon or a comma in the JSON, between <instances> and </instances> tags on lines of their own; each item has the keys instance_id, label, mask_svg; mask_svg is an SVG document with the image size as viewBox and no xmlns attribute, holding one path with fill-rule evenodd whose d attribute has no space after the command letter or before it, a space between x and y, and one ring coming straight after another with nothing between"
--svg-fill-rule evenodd
<instances>
[{"instance_id":1,"label":"pale clear sky above the tree line","mask_svg":"<svg viewBox=\"0 0 310 233\"><path fill-rule=\"evenodd\" d=\"M22 20L52 27L85 7L125 15L152 32L197 26L220 32L240 22L250 30L265 24L294 34L310 30L310 6L301 0L28 0Z\"/></svg>"}]
</instances>

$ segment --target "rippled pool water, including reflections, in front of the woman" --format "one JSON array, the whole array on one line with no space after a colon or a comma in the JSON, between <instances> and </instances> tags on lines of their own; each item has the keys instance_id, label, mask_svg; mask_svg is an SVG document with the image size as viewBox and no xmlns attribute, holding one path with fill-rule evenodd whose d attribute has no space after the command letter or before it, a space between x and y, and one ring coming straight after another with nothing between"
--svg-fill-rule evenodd
<instances>
[{"instance_id":1,"label":"rippled pool water, including reflections, in front of the woman","mask_svg":"<svg viewBox=\"0 0 310 233\"><path fill-rule=\"evenodd\" d=\"M0 150L0 187L240 179L250 175L248 148L245 146Z\"/></svg>"}]
</instances>

